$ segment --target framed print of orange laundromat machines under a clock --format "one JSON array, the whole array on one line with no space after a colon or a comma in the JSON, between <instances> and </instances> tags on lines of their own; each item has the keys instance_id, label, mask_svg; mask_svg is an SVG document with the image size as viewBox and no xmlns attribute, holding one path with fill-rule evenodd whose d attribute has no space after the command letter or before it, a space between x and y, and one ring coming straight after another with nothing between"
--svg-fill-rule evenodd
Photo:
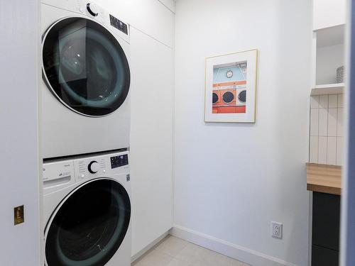
<instances>
[{"instance_id":1,"label":"framed print of orange laundromat machines under a clock","mask_svg":"<svg viewBox=\"0 0 355 266\"><path fill-rule=\"evenodd\" d=\"M258 50L206 58L205 122L255 123Z\"/></svg>"}]
</instances>

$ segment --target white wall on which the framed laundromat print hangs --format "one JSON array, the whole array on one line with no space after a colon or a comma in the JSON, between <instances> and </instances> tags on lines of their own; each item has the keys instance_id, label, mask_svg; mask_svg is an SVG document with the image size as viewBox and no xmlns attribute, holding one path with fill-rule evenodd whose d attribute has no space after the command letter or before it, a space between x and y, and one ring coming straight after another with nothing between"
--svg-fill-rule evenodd
<instances>
[{"instance_id":1,"label":"white wall on which the framed laundromat print hangs","mask_svg":"<svg viewBox=\"0 0 355 266\"><path fill-rule=\"evenodd\" d=\"M174 223L253 266L308 263L311 1L179 0ZM255 124L204 123L204 57L259 50ZM283 240L271 238L283 223Z\"/></svg>"}]
</instances>

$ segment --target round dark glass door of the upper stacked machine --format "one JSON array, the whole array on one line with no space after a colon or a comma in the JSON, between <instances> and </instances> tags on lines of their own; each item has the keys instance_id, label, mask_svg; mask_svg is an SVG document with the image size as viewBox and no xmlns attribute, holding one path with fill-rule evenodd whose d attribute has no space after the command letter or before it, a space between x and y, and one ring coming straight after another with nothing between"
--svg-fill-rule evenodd
<instances>
[{"instance_id":1,"label":"round dark glass door of the upper stacked machine","mask_svg":"<svg viewBox=\"0 0 355 266\"><path fill-rule=\"evenodd\" d=\"M63 18L43 38L43 78L68 108L104 116L124 103L130 71L118 40L87 18Z\"/></svg>"}]
</instances>

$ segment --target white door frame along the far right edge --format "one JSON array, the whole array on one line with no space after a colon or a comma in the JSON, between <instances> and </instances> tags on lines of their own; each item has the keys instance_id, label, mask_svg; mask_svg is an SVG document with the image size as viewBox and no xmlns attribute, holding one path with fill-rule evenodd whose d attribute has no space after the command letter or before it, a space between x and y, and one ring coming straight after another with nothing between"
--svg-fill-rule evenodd
<instances>
[{"instance_id":1,"label":"white door frame along the far right edge","mask_svg":"<svg viewBox=\"0 0 355 266\"><path fill-rule=\"evenodd\" d=\"M348 0L340 265L355 265L355 4Z\"/></svg>"}]
</instances>

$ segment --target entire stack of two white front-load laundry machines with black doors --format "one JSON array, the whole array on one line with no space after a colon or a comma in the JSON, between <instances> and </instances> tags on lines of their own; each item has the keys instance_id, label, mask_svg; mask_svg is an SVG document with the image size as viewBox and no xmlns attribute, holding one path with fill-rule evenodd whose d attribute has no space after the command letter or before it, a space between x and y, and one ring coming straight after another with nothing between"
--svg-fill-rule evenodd
<instances>
[{"instance_id":1,"label":"entire stack of two white front-load laundry machines with black doors","mask_svg":"<svg viewBox=\"0 0 355 266\"><path fill-rule=\"evenodd\" d=\"M129 25L42 0L45 265L131 263Z\"/></svg>"}]
</instances>

